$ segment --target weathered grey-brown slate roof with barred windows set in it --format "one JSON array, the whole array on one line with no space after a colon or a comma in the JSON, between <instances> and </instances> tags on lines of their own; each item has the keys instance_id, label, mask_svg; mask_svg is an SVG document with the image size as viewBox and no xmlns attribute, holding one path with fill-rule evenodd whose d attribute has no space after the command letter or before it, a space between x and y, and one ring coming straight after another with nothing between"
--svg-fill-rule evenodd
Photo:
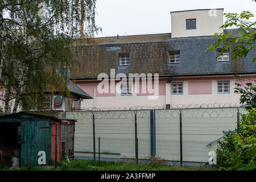
<instances>
[{"instance_id":1,"label":"weathered grey-brown slate roof with barred windows set in it","mask_svg":"<svg viewBox=\"0 0 256 182\"><path fill-rule=\"evenodd\" d=\"M237 31L232 32L234 36ZM100 73L159 73L160 76L222 75L256 73L256 48L245 58L218 62L217 51L206 52L216 42L212 36L171 38L171 34L135 35L81 40L74 44L78 53L73 78L97 78ZM232 52L230 48L230 52ZM168 51L180 51L180 63L168 64ZM119 53L130 53L130 64L118 64ZM230 55L231 59L231 55Z\"/></svg>"}]
</instances>

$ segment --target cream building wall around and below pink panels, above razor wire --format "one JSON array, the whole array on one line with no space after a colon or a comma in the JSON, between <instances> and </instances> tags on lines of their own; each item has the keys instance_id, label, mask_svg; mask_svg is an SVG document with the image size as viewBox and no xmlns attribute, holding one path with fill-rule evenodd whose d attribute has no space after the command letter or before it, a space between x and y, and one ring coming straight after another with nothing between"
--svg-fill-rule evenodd
<instances>
[{"instance_id":1,"label":"cream building wall around and below pink panels, above razor wire","mask_svg":"<svg viewBox=\"0 0 256 182\"><path fill-rule=\"evenodd\" d=\"M229 80L229 79L225 79ZM194 80L196 81L196 80ZM200 80L199 80L200 81ZM117 94L114 97L94 97L94 100L84 100L81 103L82 109L88 109L95 107L97 108L109 108L109 107L135 107L135 106L158 106L165 107L166 104L171 104L171 106L176 105L197 105L197 104L238 104L240 100L240 94L234 93L234 88L236 88L236 80L230 80L230 93L229 94L218 94L217 93L217 81L210 80L212 82L212 94L188 94L188 82L183 82L183 95L172 95L171 88L166 89L166 94L168 96L159 96L156 100L148 100L148 96L120 96ZM180 82L180 81L178 81ZM171 84L166 84L171 86ZM200 89L200 88L198 88ZM143 109L143 108L142 108ZM146 109L146 108L145 108ZM160 108L159 108L160 109Z\"/></svg>"}]
</instances>

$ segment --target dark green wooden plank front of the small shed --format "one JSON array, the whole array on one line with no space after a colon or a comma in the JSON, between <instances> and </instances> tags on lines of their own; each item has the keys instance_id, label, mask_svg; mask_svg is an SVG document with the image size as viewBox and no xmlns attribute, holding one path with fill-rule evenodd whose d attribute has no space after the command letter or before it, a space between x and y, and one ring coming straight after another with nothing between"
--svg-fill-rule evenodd
<instances>
[{"instance_id":1,"label":"dark green wooden plank front of the small shed","mask_svg":"<svg viewBox=\"0 0 256 182\"><path fill-rule=\"evenodd\" d=\"M46 152L46 164L51 163L51 125L49 118L23 118L21 123L20 167L39 166L39 151Z\"/></svg>"}]
</instances>

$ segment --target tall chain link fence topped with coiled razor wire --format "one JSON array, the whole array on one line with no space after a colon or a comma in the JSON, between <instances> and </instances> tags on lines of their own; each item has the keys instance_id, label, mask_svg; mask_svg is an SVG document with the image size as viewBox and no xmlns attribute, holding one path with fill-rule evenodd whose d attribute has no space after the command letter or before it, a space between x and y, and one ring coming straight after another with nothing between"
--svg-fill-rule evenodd
<instances>
[{"instance_id":1,"label":"tall chain link fence topped with coiled razor wire","mask_svg":"<svg viewBox=\"0 0 256 182\"><path fill-rule=\"evenodd\" d=\"M156 156L171 162L208 163L223 131L237 127L243 107L73 111L75 156L83 159L133 159Z\"/></svg>"}]
</instances>

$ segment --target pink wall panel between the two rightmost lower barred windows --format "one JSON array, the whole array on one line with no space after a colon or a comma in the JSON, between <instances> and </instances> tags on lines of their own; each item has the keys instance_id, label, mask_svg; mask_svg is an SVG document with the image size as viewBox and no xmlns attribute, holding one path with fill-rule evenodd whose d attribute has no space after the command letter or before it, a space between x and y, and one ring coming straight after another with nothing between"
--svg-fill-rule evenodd
<instances>
[{"instance_id":1,"label":"pink wall panel between the two rightmost lower barred windows","mask_svg":"<svg viewBox=\"0 0 256 182\"><path fill-rule=\"evenodd\" d=\"M189 81L188 94L212 94L212 81Z\"/></svg>"}]
</instances>

